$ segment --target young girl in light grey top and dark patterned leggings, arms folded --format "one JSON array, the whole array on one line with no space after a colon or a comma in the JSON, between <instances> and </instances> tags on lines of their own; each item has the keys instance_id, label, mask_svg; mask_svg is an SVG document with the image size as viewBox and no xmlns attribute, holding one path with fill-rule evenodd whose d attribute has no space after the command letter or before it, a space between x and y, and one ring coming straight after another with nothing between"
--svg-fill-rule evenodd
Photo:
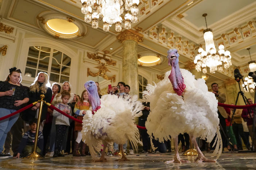
<instances>
[{"instance_id":1,"label":"young girl in light grey top and dark patterned leggings, arms folded","mask_svg":"<svg viewBox=\"0 0 256 170\"><path fill-rule=\"evenodd\" d=\"M71 107L67 105L67 103L69 102L70 93L67 91L63 91L61 93L61 96L62 96L61 97L62 102L57 104L55 107L71 115ZM62 155L60 152L61 144L62 144L63 138L65 137L67 127L69 126L69 118L57 112L56 110L53 111L53 116L56 117L55 127L57 132L56 138L55 138L53 157L63 157L64 155Z\"/></svg>"}]
</instances>

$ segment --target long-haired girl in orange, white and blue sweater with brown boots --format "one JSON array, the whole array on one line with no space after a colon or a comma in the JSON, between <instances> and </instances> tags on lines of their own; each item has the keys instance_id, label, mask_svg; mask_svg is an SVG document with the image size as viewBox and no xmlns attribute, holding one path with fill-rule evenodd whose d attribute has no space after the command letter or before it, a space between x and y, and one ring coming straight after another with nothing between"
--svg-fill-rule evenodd
<instances>
[{"instance_id":1,"label":"long-haired girl in orange, white and blue sweater with brown boots","mask_svg":"<svg viewBox=\"0 0 256 170\"><path fill-rule=\"evenodd\" d=\"M83 116L86 113L86 110L89 110L89 109L90 109L90 103L89 103L88 92L84 90L82 92L80 100L77 102L77 104L75 104L74 113L78 115L77 118L79 120L83 120ZM78 133L77 133L77 139L75 140L73 156L80 156L80 154L78 153L78 149L79 149L79 143L82 140L82 134L81 134L82 124L75 122L75 131L76 130L78 131ZM80 152L82 156L85 156L85 147L86 147L85 143L82 142L82 149Z\"/></svg>"}]
</instances>

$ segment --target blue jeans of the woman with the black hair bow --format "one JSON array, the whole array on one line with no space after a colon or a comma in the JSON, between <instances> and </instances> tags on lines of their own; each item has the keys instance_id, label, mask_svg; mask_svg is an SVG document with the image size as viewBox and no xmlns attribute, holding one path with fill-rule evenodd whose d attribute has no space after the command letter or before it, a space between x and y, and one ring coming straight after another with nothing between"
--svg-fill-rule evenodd
<instances>
[{"instance_id":1,"label":"blue jeans of the woman with the black hair bow","mask_svg":"<svg viewBox=\"0 0 256 170\"><path fill-rule=\"evenodd\" d=\"M11 114L13 112L16 112L16 110L0 108L0 117L7 116L8 114ZM7 133L11 130L12 126L18 120L19 116L20 114L18 113L12 117L0 121L0 152L3 152L4 150L3 147L5 139L7 137Z\"/></svg>"}]
</instances>

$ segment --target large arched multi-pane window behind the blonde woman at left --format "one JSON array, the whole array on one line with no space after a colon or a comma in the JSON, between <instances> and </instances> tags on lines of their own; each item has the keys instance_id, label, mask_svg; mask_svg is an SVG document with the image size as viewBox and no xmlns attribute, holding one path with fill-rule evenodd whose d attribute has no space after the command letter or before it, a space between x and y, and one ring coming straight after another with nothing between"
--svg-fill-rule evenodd
<instances>
[{"instance_id":1,"label":"large arched multi-pane window behind the blonde woman at left","mask_svg":"<svg viewBox=\"0 0 256 170\"><path fill-rule=\"evenodd\" d=\"M25 76L36 77L46 72L50 81L69 81L71 58L59 50L45 46L30 46L27 56Z\"/></svg>"}]
</instances>

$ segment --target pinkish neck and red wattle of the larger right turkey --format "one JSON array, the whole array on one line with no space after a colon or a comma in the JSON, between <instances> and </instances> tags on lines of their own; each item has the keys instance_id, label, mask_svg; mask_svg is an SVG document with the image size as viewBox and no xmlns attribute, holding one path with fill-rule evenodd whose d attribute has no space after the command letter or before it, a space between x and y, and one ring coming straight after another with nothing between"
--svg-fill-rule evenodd
<instances>
[{"instance_id":1,"label":"pinkish neck and red wattle of the larger right turkey","mask_svg":"<svg viewBox=\"0 0 256 170\"><path fill-rule=\"evenodd\" d=\"M168 76L171 81L173 90L181 96L186 85L184 84L184 78L182 77L181 70L179 68L179 61L172 60L171 74Z\"/></svg>"}]
</instances>

